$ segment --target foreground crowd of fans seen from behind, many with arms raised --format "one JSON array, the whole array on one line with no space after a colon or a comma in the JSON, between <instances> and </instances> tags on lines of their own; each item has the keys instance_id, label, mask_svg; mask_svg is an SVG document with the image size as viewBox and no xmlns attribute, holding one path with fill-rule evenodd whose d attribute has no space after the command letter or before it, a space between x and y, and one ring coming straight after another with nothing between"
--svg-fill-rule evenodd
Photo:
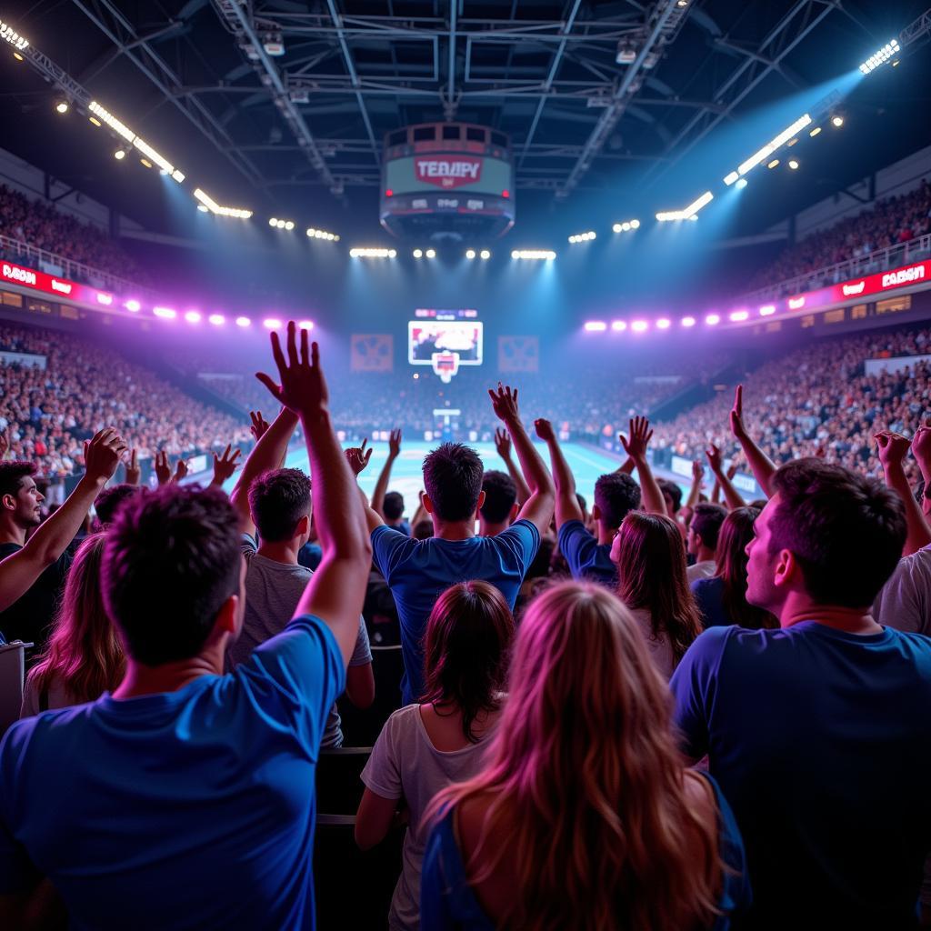
<instances>
[{"instance_id":1,"label":"foreground crowd of fans seen from behind, many with arms raised","mask_svg":"<svg viewBox=\"0 0 931 931\"><path fill-rule=\"evenodd\" d=\"M39 648L0 742L3 926L310 928L315 888L330 926L346 886L324 877L347 874L354 924L393 929L927 924L931 525L905 463L931 475L931 426L875 433L882 481L776 466L738 390L722 421L764 499L711 451L724 504L697 483L683 504L635 417L589 509L554 425L533 421L547 463L524 425L542 412L499 385L506 473L439 444L415 538L388 491L400 434L367 499L371 451L337 440L300 340L272 337L280 411L253 418L228 498L170 475L104 491L130 453L113 427L44 521L34 464L0 462L0 631ZM299 425L313 483L280 467ZM360 618L378 585L394 680ZM385 693L371 753L343 692ZM334 784L332 760L360 771ZM400 856L352 860L347 824Z\"/></svg>"}]
</instances>

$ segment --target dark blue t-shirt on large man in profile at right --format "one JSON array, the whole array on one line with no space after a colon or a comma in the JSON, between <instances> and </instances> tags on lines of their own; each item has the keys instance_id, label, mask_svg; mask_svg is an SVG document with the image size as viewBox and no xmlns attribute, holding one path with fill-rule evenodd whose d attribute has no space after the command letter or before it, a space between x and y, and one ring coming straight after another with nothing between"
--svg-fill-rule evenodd
<instances>
[{"instance_id":1,"label":"dark blue t-shirt on large man in profile at right","mask_svg":"<svg viewBox=\"0 0 931 931\"><path fill-rule=\"evenodd\" d=\"M670 687L683 747L708 754L747 845L749 927L913 926L931 850L931 639L711 627Z\"/></svg>"}]
</instances>

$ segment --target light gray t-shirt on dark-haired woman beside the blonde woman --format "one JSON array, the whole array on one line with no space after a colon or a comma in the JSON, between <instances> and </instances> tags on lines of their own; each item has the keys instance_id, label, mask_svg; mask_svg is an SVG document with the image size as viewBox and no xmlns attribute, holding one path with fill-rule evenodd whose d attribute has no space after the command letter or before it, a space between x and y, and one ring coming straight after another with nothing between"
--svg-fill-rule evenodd
<instances>
[{"instance_id":1,"label":"light gray t-shirt on dark-haired woman beside the blonde woman","mask_svg":"<svg viewBox=\"0 0 931 931\"><path fill-rule=\"evenodd\" d=\"M383 799L404 799L411 810L411 825L404 838L403 869L391 899L388 927L391 931L415 931L420 927L420 874L429 834L421 822L427 805L440 789L462 782L479 772L482 750L493 729L478 744L451 752L436 749L426 733L420 705L395 711L378 735L362 781Z\"/></svg>"}]
</instances>

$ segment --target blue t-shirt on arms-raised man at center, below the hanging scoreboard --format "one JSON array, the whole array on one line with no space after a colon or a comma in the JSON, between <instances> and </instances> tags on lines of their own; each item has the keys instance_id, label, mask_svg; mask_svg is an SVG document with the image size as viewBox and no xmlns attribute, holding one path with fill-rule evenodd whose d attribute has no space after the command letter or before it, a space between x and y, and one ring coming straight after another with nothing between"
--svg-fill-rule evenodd
<instances>
[{"instance_id":1,"label":"blue t-shirt on arms-raised man at center, below the hanging scoreboard","mask_svg":"<svg viewBox=\"0 0 931 931\"><path fill-rule=\"evenodd\" d=\"M398 607L405 705L424 692L421 641L439 595L457 582L481 579L499 588L513 610L520 584L539 546L540 533L529 520L516 520L497 536L467 540L414 540L385 526L371 532L375 565L385 576Z\"/></svg>"}]
</instances>

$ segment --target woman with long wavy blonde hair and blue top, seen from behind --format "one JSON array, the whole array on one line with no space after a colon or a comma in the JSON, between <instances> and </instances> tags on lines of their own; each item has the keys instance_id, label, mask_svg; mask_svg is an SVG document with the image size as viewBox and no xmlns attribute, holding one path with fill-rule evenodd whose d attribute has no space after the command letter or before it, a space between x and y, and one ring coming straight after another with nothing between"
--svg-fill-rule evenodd
<instances>
[{"instance_id":1,"label":"woman with long wavy blonde hair and blue top, seen from behind","mask_svg":"<svg viewBox=\"0 0 931 931\"><path fill-rule=\"evenodd\" d=\"M484 767L427 813L424 931L726 929L749 904L743 843L676 749L667 683L624 605L549 589L508 682Z\"/></svg>"}]
</instances>

